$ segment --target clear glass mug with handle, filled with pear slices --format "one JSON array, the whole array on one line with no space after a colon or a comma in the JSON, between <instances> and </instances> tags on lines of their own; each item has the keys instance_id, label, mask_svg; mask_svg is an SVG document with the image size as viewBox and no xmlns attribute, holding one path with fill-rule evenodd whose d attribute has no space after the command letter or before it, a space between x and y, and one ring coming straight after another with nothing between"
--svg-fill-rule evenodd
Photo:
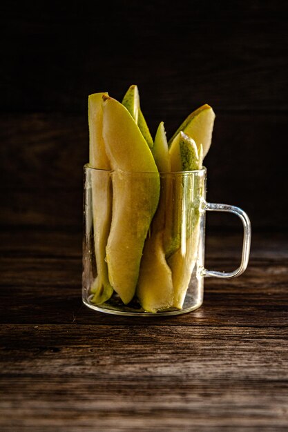
<instances>
[{"instance_id":1,"label":"clear glass mug with handle, filled with pear slices","mask_svg":"<svg viewBox=\"0 0 288 432\"><path fill-rule=\"evenodd\" d=\"M84 166L82 299L104 313L163 316L203 302L204 277L247 268L251 225L244 211L206 202L206 168L128 173ZM230 273L204 268L206 211L240 217L242 260Z\"/></svg>"}]
</instances>

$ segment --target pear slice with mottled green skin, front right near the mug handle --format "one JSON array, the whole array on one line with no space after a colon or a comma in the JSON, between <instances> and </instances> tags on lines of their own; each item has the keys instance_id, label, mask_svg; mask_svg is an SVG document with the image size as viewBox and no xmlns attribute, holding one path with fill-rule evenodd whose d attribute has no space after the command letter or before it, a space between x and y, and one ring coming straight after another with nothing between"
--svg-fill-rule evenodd
<instances>
[{"instance_id":1,"label":"pear slice with mottled green skin, front right near the mug handle","mask_svg":"<svg viewBox=\"0 0 288 432\"><path fill-rule=\"evenodd\" d=\"M202 168L195 141L180 131L169 148L172 171L193 171ZM192 176L192 177L191 177ZM175 177L172 197L166 216L165 248L167 263L172 271L175 308L182 308L198 254L200 239L200 204L202 185L198 176Z\"/></svg>"}]
</instances>

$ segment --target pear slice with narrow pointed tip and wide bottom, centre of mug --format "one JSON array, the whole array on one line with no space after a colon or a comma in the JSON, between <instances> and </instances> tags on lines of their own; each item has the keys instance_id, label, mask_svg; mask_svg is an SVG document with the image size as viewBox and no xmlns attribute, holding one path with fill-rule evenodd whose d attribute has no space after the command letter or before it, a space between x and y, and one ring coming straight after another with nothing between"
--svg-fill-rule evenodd
<instances>
[{"instance_id":1,"label":"pear slice with narrow pointed tip and wide bottom, centre of mug","mask_svg":"<svg viewBox=\"0 0 288 432\"><path fill-rule=\"evenodd\" d=\"M160 123L152 153L160 171L170 171L170 156L163 122ZM142 308L147 312L156 313L168 309L173 304L174 291L172 274L166 262L163 235L166 214L166 195L169 190L170 178L161 177L160 200L151 230L144 244L137 284L137 297Z\"/></svg>"}]
</instances>

